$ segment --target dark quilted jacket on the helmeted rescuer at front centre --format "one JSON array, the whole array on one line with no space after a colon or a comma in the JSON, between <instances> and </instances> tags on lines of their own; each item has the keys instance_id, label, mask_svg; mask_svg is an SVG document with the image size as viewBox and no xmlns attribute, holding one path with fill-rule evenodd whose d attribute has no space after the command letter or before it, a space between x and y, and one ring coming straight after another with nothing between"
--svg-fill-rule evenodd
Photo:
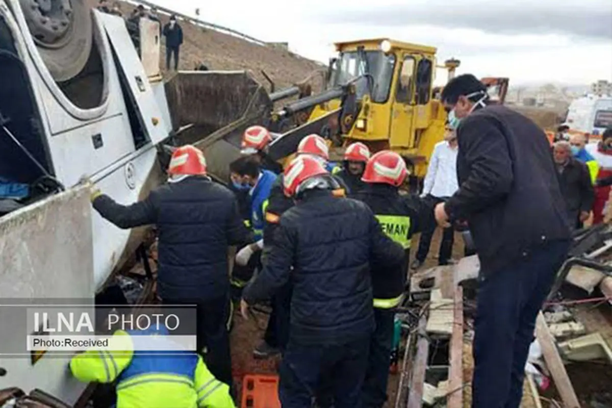
<instances>
[{"instance_id":1,"label":"dark quilted jacket on the helmeted rescuer at front centre","mask_svg":"<svg viewBox=\"0 0 612 408\"><path fill-rule=\"evenodd\" d=\"M403 258L363 202L306 191L281 217L264 269L243 296L255 303L291 281L289 341L345 344L374 328L371 265Z\"/></svg>"}]
</instances>

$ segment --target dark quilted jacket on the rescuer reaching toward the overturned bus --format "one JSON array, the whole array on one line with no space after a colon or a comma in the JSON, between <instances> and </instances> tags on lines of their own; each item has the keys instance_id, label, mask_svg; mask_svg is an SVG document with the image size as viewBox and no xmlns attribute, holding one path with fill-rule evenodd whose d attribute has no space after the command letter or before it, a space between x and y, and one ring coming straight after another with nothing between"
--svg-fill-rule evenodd
<instances>
[{"instance_id":1,"label":"dark quilted jacket on the rescuer reaching toward the overturned bus","mask_svg":"<svg viewBox=\"0 0 612 408\"><path fill-rule=\"evenodd\" d=\"M131 206L106 195L93 204L119 228L157 225L162 299L198 301L225 295L230 287L228 246L252 242L231 191L203 177L163 185Z\"/></svg>"}]
</instances>

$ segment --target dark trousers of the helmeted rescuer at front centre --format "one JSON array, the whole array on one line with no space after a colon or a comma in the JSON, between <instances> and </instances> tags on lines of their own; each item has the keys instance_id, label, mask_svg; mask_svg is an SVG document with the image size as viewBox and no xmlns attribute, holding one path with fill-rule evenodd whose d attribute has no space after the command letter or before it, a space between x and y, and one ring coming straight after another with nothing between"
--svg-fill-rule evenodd
<instances>
[{"instance_id":1,"label":"dark trousers of the helmeted rescuer at front centre","mask_svg":"<svg viewBox=\"0 0 612 408\"><path fill-rule=\"evenodd\" d=\"M369 348L368 336L333 346L289 341L280 366L280 403L283 407L311 408L316 390L329 388L335 408L361 408ZM329 384L321 384L323 381Z\"/></svg>"}]
</instances>

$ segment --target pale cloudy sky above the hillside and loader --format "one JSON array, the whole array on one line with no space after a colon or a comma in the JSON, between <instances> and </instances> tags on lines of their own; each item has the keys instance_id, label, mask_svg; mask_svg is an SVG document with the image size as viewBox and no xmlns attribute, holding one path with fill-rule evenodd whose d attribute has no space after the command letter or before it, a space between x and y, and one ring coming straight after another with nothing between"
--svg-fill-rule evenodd
<instances>
[{"instance_id":1,"label":"pale cloudy sky above the hillside and loader","mask_svg":"<svg viewBox=\"0 0 612 408\"><path fill-rule=\"evenodd\" d=\"M439 62L461 60L458 73L511 84L612 80L612 0L150 1L188 15L199 7L204 21L323 62L333 42L390 37L436 46Z\"/></svg>"}]
</instances>

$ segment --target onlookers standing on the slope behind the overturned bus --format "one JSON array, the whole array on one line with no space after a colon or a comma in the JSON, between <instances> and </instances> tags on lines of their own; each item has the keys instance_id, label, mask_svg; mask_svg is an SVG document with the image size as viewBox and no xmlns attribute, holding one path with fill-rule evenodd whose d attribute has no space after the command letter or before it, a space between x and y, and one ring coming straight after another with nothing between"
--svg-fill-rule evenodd
<instances>
[{"instance_id":1,"label":"onlookers standing on the slope behind the overturned bus","mask_svg":"<svg viewBox=\"0 0 612 408\"><path fill-rule=\"evenodd\" d=\"M121 10L121 3L118 1L113 2L112 6L108 0L99 0L98 10L104 13L117 15L123 17L124 13ZM146 10L142 4L139 4L130 13L129 17L125 18L125 24L127 31L132 37L132 42L136 47L136 50L140 54L140 19L147 18L151 21L157 21L160 24L160 34L165 37L166 40L166 70L170 70L170 61L174 57L174 70L176 71L179 66L179 50L183 43L183 30L179 23L176 21L176 15L171 15L168 23L163 25L162 21L157 13L157 9L152 7L150 10Z\"/></svg>"}]
</instances>

